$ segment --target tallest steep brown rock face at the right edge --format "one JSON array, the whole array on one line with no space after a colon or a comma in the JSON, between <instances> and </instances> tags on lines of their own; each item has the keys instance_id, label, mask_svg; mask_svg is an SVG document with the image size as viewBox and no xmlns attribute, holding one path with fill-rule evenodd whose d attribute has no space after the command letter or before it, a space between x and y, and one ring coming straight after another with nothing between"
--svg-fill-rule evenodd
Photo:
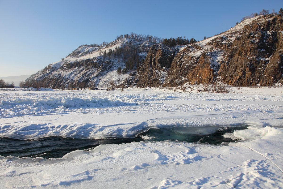
<instances>
[{"instance_id":1,"label":"tallest steep brown rock face at the right edge","mask_svg":"<svg viewBox=\"0 0 283 189\"><path fill-rule=\"evenodd\" d=\"M244 27L228 49L218 76L232 86L282 84L282 15Z\"/></svg>"}]
</instances>

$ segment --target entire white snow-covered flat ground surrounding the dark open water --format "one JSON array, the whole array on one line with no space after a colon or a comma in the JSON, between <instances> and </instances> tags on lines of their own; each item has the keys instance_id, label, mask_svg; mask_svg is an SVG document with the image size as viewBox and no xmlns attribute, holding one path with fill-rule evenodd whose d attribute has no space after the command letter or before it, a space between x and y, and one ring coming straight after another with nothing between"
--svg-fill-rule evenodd
<instances>
[{"instance_id":1,"label":"entire white snow-covered flat ground surrounding the dark open water","mask_svg":"<svg viewBox=\"0 0 283 189\"><path fill-rule=\"evenodd\" d=\"M237 143L133 142L63 158L0 156L1 188L283 188L283 88L228 94L124 91L0 91L0 136L103 139L149 128L250 125ZM146 137L146 136L145 136Z\"/></svg>"}]
</instances>

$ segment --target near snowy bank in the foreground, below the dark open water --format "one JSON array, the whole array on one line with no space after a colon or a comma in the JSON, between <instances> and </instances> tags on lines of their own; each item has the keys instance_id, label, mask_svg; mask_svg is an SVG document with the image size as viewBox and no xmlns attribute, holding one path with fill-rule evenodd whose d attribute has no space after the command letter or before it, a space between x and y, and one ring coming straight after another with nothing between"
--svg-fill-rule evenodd
<instances>
[{"instance_id":1,"label":"near snowy bank in the foreground, below the dark open water","mask_svg":"<svg viewBox=\"0 0 283 189\"><path fill-rule=\"evenodd\" d=\"M76 150L62 159L48 160L1 157L1 166L6 168L0 173L0 184L21 188L91 188L93 184L97 188L281 188L282 129L250 127L241 132L245 136L252 132L248 135L256 139L232 146L173 141L100 145L89 152Z\"/></svg>"}]
</instances>

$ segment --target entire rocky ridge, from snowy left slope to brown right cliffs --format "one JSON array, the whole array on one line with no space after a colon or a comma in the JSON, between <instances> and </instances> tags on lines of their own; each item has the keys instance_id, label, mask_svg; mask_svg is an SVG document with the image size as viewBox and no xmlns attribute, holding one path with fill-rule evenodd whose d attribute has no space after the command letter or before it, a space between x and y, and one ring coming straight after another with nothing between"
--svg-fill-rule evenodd
<instances>
[{"instance_id":1,"label":"entire rocky ridge, from snowy left slope to brown right cliffs","mask_svg":"<svg viewBox=\"0 0 283 189\"><path fill-rule=\"evenodd\" d=\"M231 86L283 84L283 18L246 19L214 37L167 46L125 37L80 46L65 59L31 75L26 85L179 87L221 82Z\"/></svg>"}]
</instances>

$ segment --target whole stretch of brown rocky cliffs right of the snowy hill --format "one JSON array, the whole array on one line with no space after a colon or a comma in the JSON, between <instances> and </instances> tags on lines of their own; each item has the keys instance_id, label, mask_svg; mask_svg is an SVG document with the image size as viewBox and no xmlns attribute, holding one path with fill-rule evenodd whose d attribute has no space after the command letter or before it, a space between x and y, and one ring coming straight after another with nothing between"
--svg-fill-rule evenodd
<instances>
[{"instance_id":1,"label":"whole stretch of brown rocky cliffs right of the snowy hill","mask_svg":"<svg viewBox=\"0 0 283 189\"><path fill-rule=\"evenodd\" d=\"M135 76L124 83L138 87L218 81L231 86L282 85L282 31L282 15L265 15L181 49L155 45Z\"/></svg>"}]
</instances>

